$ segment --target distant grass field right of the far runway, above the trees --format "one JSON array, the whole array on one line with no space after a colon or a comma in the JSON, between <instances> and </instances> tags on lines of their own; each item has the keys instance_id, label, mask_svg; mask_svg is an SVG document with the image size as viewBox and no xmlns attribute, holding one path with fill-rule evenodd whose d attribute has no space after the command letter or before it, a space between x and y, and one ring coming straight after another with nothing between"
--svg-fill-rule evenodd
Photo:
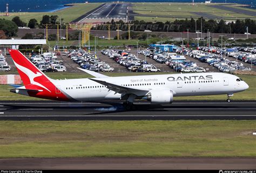
<instances>
[{"instance_id":1,"label":"distant grass field right of the far runway, above the trees","mask_svg":"<svg viewBox=\"0 0 256 173\"><path fill-rule=\"evenodd\" d=\"M133 3L132 6L133 12L142 15L156 15L156 17L143 17L145 21L166 21L165 18L159 17L161 15L170 16L169 21L173 21L176 19L175 16L178 16L179 19L184 18L199 18L200 16L194 15L192 12L205 12L209 13L210 15L223 17L224 19L237 19L237 18L255 18L253 16L244 15L241 13L235 13L231 11L221 10L217 8L212 8L211 4L199 4L196 3L192 5L191 3ZM214 3L214 5L216 5ZM223 4L222 4L223 5ZM234 4L227 4L227 6L232 6ZM247 8L241 8L235 6L234 8L247 10ZM248 11L256 11L254 9L248 9ZM158 17L157 17L158 16ZM173 18L174 17L174 18ZM140 16L136 16L135 19L140 20L143 19Z\"/></svg>"}]
</instances>

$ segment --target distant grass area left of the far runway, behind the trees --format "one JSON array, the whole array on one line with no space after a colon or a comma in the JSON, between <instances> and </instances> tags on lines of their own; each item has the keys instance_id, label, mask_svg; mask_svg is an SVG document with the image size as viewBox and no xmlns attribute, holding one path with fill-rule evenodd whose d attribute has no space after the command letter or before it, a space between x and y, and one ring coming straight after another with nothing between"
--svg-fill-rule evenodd
<instances>
[{"instance_id":1,"label":"distant grass area left of the far runway, behind the trees","mask_svg":"<svg viewBox=\"0 0 256 173\"><path fill-rule=\"evenodd\" d=\"M15 16L19 16L21 20L26 23L28 23L31 18L36 18L39 23L42 20L43 15L57 15L61 16L64 19L64 22L68 23L84 15L86 12L97 8L101 4L102 3L79 3L74 4L74 6L71 6L69 8L58 10L55 12L10 12L10 16L0 16L0 18L11 20Z\"/></svg>"}]
</instances>

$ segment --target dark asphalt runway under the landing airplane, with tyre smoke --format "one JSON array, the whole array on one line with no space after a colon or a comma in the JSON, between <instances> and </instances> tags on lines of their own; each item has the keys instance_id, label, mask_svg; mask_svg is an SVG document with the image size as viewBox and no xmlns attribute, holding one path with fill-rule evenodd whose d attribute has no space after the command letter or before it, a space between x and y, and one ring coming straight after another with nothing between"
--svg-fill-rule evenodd
<instances>
[{"instance_id":1,"label":"dark asphalt runway under the landing airplane, with tyre smoke","mask_svg":"<svg viewBox=\"0 0 256 173\"><path fill-rule=\"evenodd\" d=\"M121 101L0 102L0 120L256 120L256 101L176 101L169 105L135 102L126 111Z\"/></svg>"}]
</instances>

